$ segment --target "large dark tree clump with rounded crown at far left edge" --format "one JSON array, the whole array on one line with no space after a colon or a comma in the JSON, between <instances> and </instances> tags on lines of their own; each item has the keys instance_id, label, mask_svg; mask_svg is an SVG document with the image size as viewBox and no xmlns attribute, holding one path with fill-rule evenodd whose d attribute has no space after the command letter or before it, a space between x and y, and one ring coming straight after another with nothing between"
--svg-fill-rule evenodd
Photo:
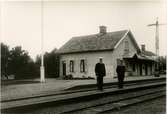
<instances>
[{"instance_id":1,"label":"large dark tree clump with rounded crown at far left edge","mask_svg":"<svg viewBox=\"0 0 167 114\"><path fill-rule=\"evenodd\" d=\"M1 76L14 75L15 79L34 78L37 75L36 65L23 50L21 46L16 46L9 50L9 47L1 43Z\"/></svg>"}]
</instances>

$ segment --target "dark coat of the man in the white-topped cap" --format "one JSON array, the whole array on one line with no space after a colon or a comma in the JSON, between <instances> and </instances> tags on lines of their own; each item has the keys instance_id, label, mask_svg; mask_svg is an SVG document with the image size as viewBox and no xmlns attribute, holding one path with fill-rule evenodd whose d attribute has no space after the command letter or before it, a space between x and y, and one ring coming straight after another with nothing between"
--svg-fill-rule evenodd
<instances>
[{"instance_id":1,"label":"dark coat of the man in the white-topped cap","mask_svg":"<svg viewBox=\"0 0 167 114\"><path fill-rule=\"evenodd\" d=\"M96 76L106 76L106 69L104 63L97 63L95 66Z\"/></svg>"}]
</instances>

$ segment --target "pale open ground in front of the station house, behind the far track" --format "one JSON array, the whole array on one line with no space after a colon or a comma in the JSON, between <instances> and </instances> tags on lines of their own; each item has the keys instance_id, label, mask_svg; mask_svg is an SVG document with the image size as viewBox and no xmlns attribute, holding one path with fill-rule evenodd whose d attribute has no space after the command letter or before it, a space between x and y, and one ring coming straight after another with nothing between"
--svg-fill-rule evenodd
<instances>
[{"instance_id":1,"label":"pale open ground in front of the station house, behind the far track","mask_svg":"<svg viewBox=\"0 0 167 114\"><path fill-rule=\"evenodd\" d=\"M154 76L135 76L126 77L125 82L133 80L148 80L166 77L161 75L160 77ZM25 81L25 80L20 80ZM60 79L46 79L46 82L40 83L39 79L26 80L35 83L14 83L1 86L1 101L20 99L26 97L49 95L52 93L58 93L64 90L70 90L77 87L87 87L90 85L96 86L96 80L60 80ZM104 78L104 84L117 83L117 78Z\"/></svg>"}]
</instances>

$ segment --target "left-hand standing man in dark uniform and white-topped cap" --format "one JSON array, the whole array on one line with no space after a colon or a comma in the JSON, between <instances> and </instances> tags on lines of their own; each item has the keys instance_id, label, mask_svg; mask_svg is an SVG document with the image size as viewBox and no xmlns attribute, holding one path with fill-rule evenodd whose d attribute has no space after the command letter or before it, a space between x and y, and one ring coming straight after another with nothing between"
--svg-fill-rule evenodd
<instances>
[{"instance_id":1,"label":"left-hand standing man in dark uniform and white-topped cap","mask_svg":"<svg viewBox=\"0 0 167 114\"><path fill-rule=\"evenodd\" d=\"M97 88L99 90L103 90L103 77L106 76L105 64L103 63L103 59L100 57L99 63L95 66L95 74L97 77Z\"/></svg>"}]
</instances>

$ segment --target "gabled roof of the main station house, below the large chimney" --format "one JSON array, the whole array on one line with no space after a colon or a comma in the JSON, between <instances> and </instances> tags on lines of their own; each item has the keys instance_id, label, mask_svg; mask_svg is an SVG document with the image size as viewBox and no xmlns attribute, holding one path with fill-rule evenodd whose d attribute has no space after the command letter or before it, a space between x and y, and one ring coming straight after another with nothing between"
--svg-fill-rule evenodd
<instances>
[{"instance_id":1,"label":"gabled roof of the main station house, below the large chimney","mask_svg":"<svg viewBox=\"0 0 167 114\"><path fill-rule=\"evenodd\" d=\"M105 34L93 34L87 36L73 37L66 44L64 44L60 49L59 53L79 53L79 52L91 52L91 51L104 51L115 49L120 41L130 33L129 30L122 30L116 32L107 32ZM134 38L131 38L134 44L139 49ZM140 50L140 49L139 49Z\"/></svg>"}]
</instances>

